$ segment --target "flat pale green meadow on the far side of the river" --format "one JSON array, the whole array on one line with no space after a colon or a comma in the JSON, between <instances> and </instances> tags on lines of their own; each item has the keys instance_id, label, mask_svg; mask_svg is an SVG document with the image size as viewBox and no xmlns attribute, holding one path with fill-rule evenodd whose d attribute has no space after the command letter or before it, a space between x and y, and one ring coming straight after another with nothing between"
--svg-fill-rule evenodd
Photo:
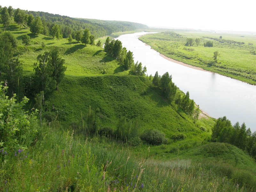
<instances>
[{"instance_id":1,"label":"flat pale green meadow on the far side of the river","mask_svg":"<svg viewBox=\"0 0 256 192\"><path fill-rule=\"evenodd\" d=\"M229 33L190 33L175 31L173 34L156 33L140 37L144 43L149 44L156 51L172 59L203 68L221 75L229 76L250 84L256 84L255 57L256 38L251 34ZM181 36L177 36L177 33ZM220 43L210 38L228 40ZM184 46L187 38L200 38L199 46ZM214 42L213 47L204 47L206 41ZM244 44L231 43L232 41ZM249 45L251 43L252 45ZM218 51L218 61L210 66L206 64L213 60L213 52Z\"/></svg>"}]
</instances>

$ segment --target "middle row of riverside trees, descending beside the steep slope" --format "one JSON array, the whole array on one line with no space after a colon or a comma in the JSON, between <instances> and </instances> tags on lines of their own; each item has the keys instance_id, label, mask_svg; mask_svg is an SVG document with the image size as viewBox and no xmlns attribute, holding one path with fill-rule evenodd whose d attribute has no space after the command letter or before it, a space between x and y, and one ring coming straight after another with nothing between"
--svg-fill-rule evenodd
<instances>
[{"instance_id":1,"label":"middle row of riverside trees, descending beside the steep slope","mask_svg":"<svg viewBox=\"0 0 256 192\"><path fill-rule=\"evenodd\" d=\"M163 76L160 76L156 71L155 76L152 79L152 83L154 86L162 90L165 99L167 99L170 103L179 105L179 107L182 108L188 115L198 118L199 109L195 109L194 100L189 99L189 92L187 92L184 96L181 96L177 92L178 88L172 82L172 75L169 75L169 73L166 72Z\"/></svg>"}]
</instances>

